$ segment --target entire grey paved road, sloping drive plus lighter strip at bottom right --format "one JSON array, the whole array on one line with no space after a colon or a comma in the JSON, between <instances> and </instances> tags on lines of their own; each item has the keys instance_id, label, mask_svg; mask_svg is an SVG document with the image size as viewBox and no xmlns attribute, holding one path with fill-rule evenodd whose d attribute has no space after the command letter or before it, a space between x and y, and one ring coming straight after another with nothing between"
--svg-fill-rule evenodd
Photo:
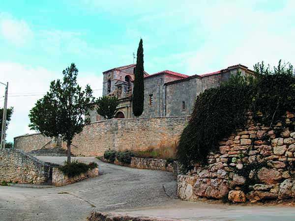
<instances>
[{"instance_id":1,"label":"entire grey paved road, sloping drive plus lighter strip at bottom right","mask_svg":"<svg viewBox=\"0 0 295 221\"><path fill-rule=\"evenodd\" d=\"M62 163L62 157L38 157ZM292 221L294 207L218 205L184 202L167 196L176 184L169 172L106 164L103 175L65 187L29 189L0 186L0 221L81 221L92 210L185 221ZM171 190L170 190L171 191Z\"/></svg>"}]
</instances>

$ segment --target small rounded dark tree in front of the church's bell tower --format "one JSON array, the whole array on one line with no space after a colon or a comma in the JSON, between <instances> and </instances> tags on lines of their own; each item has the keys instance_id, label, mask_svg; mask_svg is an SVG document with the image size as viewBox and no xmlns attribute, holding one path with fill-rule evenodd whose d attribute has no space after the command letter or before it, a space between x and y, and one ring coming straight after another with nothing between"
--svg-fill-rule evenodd
<instances>
[{"instance_id":1,"label":"small rounded dark tree in front of the church's bell tower","mask_svg":"<svg viewBox=\"0 0 295 221\"><path fill-rule=\"evenodd\" d=\"M114 118L119 101L117 97L103 96L96 100L96 111L106 119Z\"/></svg>"}]
</instances>

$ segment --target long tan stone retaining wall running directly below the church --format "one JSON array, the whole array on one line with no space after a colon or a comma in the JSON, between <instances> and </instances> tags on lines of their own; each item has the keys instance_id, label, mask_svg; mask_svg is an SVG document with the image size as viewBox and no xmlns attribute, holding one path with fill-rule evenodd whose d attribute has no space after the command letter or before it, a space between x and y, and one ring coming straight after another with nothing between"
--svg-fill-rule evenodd
<instances>
[{"instance_id":1,"label":"long tan stone retaining wall running directly below the church","mask_svg":"<svg viewBox=\"0 0 295 221\"><path fill-rule=\"evenodd\" d=\"M102 156L108 149L146 150L176 145L188 116L111 119L94 122L73 139L72 154ZM15 148L29 152L40 149L51 138L41 134L14 138ZM62 147L66 149L65 142Z\"/></svg>"}]
</instances>

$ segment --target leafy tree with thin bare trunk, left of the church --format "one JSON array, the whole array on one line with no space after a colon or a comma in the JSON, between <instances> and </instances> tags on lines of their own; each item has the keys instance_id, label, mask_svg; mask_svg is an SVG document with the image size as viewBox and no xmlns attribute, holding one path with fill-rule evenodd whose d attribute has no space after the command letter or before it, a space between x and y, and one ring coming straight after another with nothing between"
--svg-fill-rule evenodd
<instances>
[{"instance_id":1,"label":"leafy tree with thin bare trunk, left of the church","mask_svg":"<svg viewBox=\"0 0 295 221\"><path fill-rule=\"evenodd\" d=\"M53 81L46 95L30 110L29 127L48 137L61 136L67 143L67 163L71 162L71 143L76 134L89 124L84 118L94 98L89 85L85 90L77 83L78 69L74 63L62 72L63 81Z\"/></svg>"}]
</instances>

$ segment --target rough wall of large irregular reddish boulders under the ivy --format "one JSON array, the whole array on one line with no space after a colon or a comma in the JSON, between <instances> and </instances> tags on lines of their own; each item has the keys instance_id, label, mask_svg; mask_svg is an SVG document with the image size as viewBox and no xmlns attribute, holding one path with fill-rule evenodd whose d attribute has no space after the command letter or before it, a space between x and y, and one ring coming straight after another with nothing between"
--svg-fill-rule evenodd
<instances>
[{"instance_id":1,"label":"rough wall of large irregular reddish boulders under the ivy","mask_svg":"<svg viewBox=\"0 0 295 221\"><path fill-rule=\"evenodd\" d=\"M208 166L196 165L186 175L178 175L178 196L233 202L295 197L295 117L287 113L282 126L273 128L253 123L249 113L245 128L220 141L211 152Z\"/></svg>"}]
</instances>

